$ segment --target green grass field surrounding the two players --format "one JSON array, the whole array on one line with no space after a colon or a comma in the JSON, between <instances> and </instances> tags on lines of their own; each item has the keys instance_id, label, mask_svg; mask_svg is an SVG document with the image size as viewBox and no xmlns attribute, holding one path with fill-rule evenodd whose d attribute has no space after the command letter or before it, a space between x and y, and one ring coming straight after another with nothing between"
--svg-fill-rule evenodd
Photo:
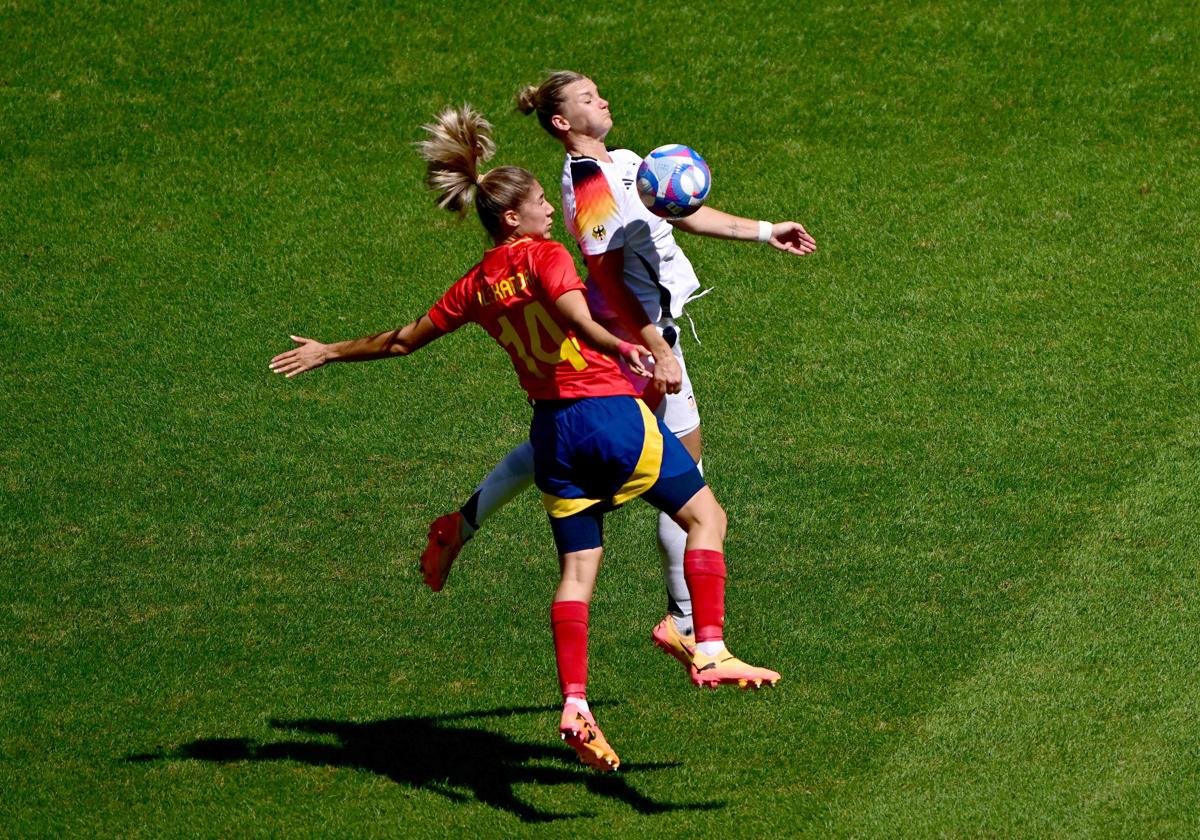
<instances>
[{"instance_id":1,"label":"green grass field surrounding the two players","mask_svg":"<svg viewBox=\"0 0 1200 840\"><path fill-rule=\"evenodd\" d=\"M0 834L1200 833L1192 2L0 2ZM610 517L557 740L540 502L448 589L424 529L526 431L478 330L294 382L476 258L412 143L592 74L610 140L820 251L684 240L730 637L654 650ZM562 227L557 230L565 238Z\"/></svg>"}]
</instances>

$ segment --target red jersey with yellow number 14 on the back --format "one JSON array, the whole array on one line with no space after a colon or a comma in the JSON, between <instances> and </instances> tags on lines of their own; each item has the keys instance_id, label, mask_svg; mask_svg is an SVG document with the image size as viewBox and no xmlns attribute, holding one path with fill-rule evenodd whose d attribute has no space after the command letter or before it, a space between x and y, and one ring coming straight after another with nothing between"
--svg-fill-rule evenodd
<instances>
[{"instance_id":1,"label":"red jersey with yellow number 14 on the back","mask_svg":"<svg viewBox=\"0 0 1200 840\"><path fill-rule=\"evenodd\" d=\"M558 242L523 236L498 245L442 295L430 320L443 332L474 322L512 360L534 400L636 396L617 361L581 343L554 301L583 290L571 254Z\"/></svg>"}]
</instances>

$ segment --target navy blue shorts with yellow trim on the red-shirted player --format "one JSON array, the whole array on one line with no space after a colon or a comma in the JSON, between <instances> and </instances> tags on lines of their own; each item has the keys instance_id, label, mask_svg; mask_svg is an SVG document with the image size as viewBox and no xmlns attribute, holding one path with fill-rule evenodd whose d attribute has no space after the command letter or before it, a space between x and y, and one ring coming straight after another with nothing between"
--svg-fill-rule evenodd
<instances>
[{"instance_id":1,"label":"navy blue shorts with yellow trim on the red-shirted player","mask_svg":"<svg viewBox=\"0 0 1200 840\"><path fill-rule=\"evenodd\" d=\"M632 498L674 515L704 486L679 438L636 397L541 401L529 440L560 554L602 545L604 514Z\"/></svg>"}]
</instances>

